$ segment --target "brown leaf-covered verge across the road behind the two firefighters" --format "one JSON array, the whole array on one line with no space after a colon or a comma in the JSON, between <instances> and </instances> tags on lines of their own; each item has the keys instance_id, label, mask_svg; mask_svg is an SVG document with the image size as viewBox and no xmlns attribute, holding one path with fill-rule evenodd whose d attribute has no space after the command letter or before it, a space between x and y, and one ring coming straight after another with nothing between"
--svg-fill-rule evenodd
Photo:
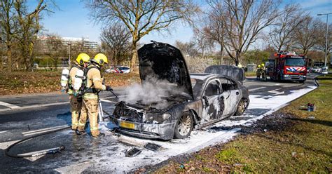
<instances>
[{"instance_id":1,"label":"brown leaf-covered verge across the road behind the two firefighters","mask_svg":"<svg viewBox=\"0 0 332 174\"><path fill-rule=\"evenodd\" d=\"M127 86L139 81L139 74L104 74L106 85ZM61 71L0 72L0 95L60 91Z\"/></svg>"}]
</instances>

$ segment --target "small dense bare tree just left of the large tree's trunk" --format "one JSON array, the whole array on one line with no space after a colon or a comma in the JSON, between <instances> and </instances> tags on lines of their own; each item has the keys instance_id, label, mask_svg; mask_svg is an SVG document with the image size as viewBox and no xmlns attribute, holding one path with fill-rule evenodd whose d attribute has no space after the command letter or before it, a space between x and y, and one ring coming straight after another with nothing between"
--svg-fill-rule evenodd
<instances>
[{"instance_id":1,"label":"small dense bare tree just left of the large tree's trunk","mask_svg":"<svg viewBox=\"0 0 332 174\"><path fill-rule=\"evenodd\" d=\"M131 34L127 28L121 25L113 25L112 27L104 28L100 35L104 46L111 51L113 57L113 65L123 62L130 56L130 38Z\"/></svg>"}]
</instances>

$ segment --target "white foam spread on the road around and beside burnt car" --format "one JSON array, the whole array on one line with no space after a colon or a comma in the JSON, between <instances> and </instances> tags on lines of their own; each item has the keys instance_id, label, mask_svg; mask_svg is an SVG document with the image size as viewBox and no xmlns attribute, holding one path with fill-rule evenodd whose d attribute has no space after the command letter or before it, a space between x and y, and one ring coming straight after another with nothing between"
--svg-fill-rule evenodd
<instances>
[{"instance_id":1,"label":"white foam spread on the road around and beside burnt car","mask_svg":"<svg viewBox=\"0 0 332 174\"><path fill-rule=\"evenodd\" d=\"M129 136L121 135L120 138L113 136L110 141L117 140L116 145L109 146L116 149L112 152L112 156L109 156L109 150L107 148L101 149L102 156L96 159L88 159L88 156L84 156L80 161L77 161L78 166L71 165L71 168L58 168L63 173L70 173L73 168L80 168L80 164L83 161L91 160L91 165L94 168L90 170L96 171L116 171L117 173L127 173L135 168L140 168L143 166L153 166L157 163L170 159L172 156L177 156L179 154L185 154L189 152L198 151L204 147L215 145L216 143L228 142L237 135L237 131L240 128L223 129L230 126L248 126L253 124L258 119L262 119L265 115L275 112L277 109L284 107L292 100L299 98L301 95L314 90L316 86L310 86L308 88L290 91L289 95L272 95L262 96L262 95L250 95L250 105L244 116L232 116L228 120L220 121L219 123L214 123L212 126L205 128L205 131L193 131L190 138L184 140L171 140L171 141L155 141L155 140L145 140L139 138L132 138ZM254 111L254 112L253 112ZM256 112L256 113L255 113ZM246 117L246 119L235 119ZM107 131L110 128L110 124L103 122L99 126L102 131L109 135ZM144 149L142 146L147 142L153 142L157 145L162 146L162 150L159 152L153 152L148 149ZM129 158L125 157L125 151L128 149L128 144L135 145L137 148L142 149L141 154L138 156Z\"/></svg>"}]
</instances>

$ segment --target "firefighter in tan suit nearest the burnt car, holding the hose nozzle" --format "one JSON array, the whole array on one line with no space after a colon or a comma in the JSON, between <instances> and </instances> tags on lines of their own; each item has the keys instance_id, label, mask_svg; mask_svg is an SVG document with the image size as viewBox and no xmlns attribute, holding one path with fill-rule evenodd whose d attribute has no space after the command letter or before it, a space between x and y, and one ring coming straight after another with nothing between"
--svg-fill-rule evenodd
<instances>
[{"instance_id":1,"label":"firefighter in tan suit nearest the burnt car, holding the hose nozzle","mask_svg":"<svg viewBox=\"0 0 332 174\"><path fill-rule=\"evenodd\" d=\"M113 91L113 89L111 86L105 86L103 84L103 78L100 72L100 69L108 62L106 55L99 53L95 55L95 58L91 59L90 62L91 65L85 69L85 91L83 94L83 105L76 134L81 135L85 133L85 123L89 118L91 135L92 137L98 137L104 135L104 133L99 133L98 93L99 91Z\"/></svg>"}]
</instances>

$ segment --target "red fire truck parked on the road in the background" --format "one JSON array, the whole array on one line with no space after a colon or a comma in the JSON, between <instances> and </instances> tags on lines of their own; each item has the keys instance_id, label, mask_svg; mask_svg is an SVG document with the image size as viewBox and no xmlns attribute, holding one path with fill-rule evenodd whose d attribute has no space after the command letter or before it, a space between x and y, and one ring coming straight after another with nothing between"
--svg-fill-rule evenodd
<instances>
[{"instance_id":1,"label":"red fire truck parked on the road in the background","mask_svg":"<svg viewBox=\"0 0 332 174\"><path fill-rule=\"evenodd\" d=\"M304 55L276 53L266 64L266 74L271 80L304 82L307 79L307 58Z\"/></svg>"}]
</instances>

